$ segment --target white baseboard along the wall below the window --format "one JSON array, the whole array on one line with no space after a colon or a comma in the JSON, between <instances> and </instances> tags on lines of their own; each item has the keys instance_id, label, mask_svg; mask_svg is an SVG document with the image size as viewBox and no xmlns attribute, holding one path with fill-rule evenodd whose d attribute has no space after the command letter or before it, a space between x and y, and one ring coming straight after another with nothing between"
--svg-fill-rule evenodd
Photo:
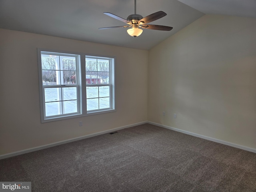
<instances>
[{"instance_id":1,"label":"white baseboard along the wall below the window","mask_svg":"<svg viewBox=\"0 0 256 192\"><path fill-rule=\"evenodd\" d=\"M54 146L57 146L57 145L62 145L62 144L65 144L65 143L70 143L70 142L74 142L74 141L78 141L78 140L82 140L82 139L86 139L86 138L90 138L90 137L110 133L110 132L113 132L113 131L129 128L129 127L142 125L142 124L145 124L145 123L147 123L147 121L136 123L136 124L130 124L130 125L127 125L127 126L122 126L122 127L102 131L102 132L97 132L97 133L93 133L93 134L89 134L89 135L85 135L85 136L81 136L81 137L77 137L77 138L72 138L72 139L68 139L68 140L64 140L64 141L60 141L60 142L55 142L55 143L51 143L51 144L47 144L47 145L42 145L42 146L33 147L33 148L25 149L25 150L20 150L20 151L17 151L17 152L3 154L3 155L0 155L0 159L5 159L5 158L21 155L21 154L33 152L33 151L38 151L38 150L41 150L41 149L46 149L46 148L54 147Z\"/></svg>"}]
</instances>

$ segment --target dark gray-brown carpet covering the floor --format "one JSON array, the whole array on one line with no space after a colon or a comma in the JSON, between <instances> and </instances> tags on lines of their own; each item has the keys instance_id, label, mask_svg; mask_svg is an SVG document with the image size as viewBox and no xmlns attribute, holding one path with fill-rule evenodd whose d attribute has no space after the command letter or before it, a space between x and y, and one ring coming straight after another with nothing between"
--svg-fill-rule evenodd
<instances>
[{"instance_id":1,"label":"dark gray-brown carpet covering the floor","mask_svg":"<svg viewBox=\"0 0 256 192\"><path fill-rule=\"evenodd\" d=\"M256 154L151 124L0 160L34 192L256 192Z\"/></svg>"}]
</instances>

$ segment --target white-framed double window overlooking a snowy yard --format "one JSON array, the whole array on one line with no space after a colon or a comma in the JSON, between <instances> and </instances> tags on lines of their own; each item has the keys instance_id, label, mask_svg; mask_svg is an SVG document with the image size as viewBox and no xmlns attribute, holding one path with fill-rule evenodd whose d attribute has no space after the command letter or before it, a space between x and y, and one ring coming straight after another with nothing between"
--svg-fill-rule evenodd
<instances>
[{"instance_id":1,"label":"white-framed double window overlooking a snowy yard","mask_svg":"<svg viewBox=\"0 0 256 192\"><path fill-rule=\"evenodd\" d=\"M41 121L114 111L114 58L38 50Z\"/></svg>"}]
</instances>

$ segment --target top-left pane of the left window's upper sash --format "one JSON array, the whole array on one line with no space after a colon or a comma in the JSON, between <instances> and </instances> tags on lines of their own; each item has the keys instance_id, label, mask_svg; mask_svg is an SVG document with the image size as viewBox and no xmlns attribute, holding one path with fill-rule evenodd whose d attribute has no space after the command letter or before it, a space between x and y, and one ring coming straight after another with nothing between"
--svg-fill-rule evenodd
<instances>
[{"instance_id":1,"label":"top-left pane of the left window's upper sash","mask_svg":"<svg viewBox=\"0 0 256 192\"><path fill-rule=\"evenodd\" d=\"M59 57L53 55L42 55L42 70L58 70Z\"/></svg>"}]
</instances>

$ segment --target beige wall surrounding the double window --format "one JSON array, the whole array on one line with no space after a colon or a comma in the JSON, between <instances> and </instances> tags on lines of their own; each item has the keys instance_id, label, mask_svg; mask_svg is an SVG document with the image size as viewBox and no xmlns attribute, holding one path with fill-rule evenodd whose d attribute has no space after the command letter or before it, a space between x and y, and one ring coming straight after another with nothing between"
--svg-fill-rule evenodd
<instances>
[{"instance_id":1,"label":"beige wall surrounding the double window","mask_svg":"<svg viewBox=\"0 0 256 192\"><path fill-rule=\"evenodd\" d=\"M115 56L116 112L41 124L37 48ZM0 29L0 155L146 121L147 68L148 51Z\"/></svg>"}]
</instances>

